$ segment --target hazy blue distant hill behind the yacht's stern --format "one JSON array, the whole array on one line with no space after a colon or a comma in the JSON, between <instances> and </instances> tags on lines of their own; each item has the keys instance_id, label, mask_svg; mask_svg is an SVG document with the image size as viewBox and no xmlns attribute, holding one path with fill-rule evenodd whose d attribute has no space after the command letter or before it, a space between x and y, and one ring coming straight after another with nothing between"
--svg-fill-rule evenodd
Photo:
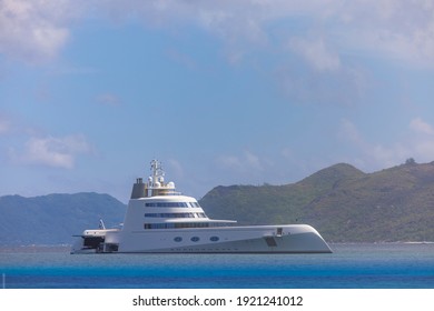
<instances>
[{"instance_id":1,"label":"hazy blue distant hill behind the yacht's stern","mask_svg":"<svg viewBox=\"0 0 434 311\"><path fill-rule=\"evenodd\" d=\"M0 245L70 244L72 234L124 221L126 207L108 194L0 197Z\"/></svg>"}]
</instances>

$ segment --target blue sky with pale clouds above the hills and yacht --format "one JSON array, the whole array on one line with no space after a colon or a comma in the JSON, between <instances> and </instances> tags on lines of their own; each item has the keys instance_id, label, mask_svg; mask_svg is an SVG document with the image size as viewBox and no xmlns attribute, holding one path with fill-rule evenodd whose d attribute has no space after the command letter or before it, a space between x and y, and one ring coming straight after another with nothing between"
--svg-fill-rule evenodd
<instances>
[{"instance_id":1,"label":"blue sky with pale clouds above the hills and yacht","mask_svg":"<svg viewBox=\"0 0 434 311\"><path fill-rule=\"evenodd\" d=\"M0 0L0 195L434 161L434 0Z\"/></svg>"}]
</instances>

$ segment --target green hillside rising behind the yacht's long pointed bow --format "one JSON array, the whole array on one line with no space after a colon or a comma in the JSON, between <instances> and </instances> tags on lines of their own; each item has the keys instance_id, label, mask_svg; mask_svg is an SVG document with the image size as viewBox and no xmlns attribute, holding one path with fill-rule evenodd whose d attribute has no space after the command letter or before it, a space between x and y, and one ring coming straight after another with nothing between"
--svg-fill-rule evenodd
<instances>
[{"instance_id":1,"label":"green hillside rising behind the yacht's long pointed bow","mask_svg":"<svg viewBox=\"0 0 434 311\"><path fill-rule=\"evenodd\" d=\"M434 162L336 164L293 184L216 187L200 204L239 224L308 223L329 242L434 241Z\"/></svg>"}]
</instances>

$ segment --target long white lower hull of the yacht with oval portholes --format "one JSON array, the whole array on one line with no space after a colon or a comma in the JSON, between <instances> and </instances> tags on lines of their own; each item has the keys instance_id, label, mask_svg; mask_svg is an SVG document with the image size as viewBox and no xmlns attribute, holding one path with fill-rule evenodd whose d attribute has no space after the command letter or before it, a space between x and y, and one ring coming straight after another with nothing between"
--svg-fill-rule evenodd
<instances>
[{"instance_id":1,"label":"long white lower hull of the yacht with oval portholes","mask_svg":"<svg viewBox=\"0 0 434 311\"><path fill-rule=\"evenodd\" d=\"M86 239L103 237L93 252L118 253L331 253L319 233L306 224L147 230L95 230L82 235L72 253L89 253Z\"/></svg>"}]
</instances>

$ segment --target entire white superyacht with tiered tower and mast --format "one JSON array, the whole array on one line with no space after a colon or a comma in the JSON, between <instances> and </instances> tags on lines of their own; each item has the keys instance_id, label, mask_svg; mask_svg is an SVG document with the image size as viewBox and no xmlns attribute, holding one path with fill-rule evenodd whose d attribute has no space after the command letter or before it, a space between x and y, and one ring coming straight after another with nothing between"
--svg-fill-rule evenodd
<instances>
[{"instance_id":1,"label":"entire white superyacht with tiered tower and mast","mask_svg":"<svg viewBox=\"0 0 434 311\"><path fill-rule=\"evenodd\" d=\"M85 230L71 253L329 253L327 243L307 224L235 225L209 219L197 200L166 183L160 163L137 179L121 229Z\"/></svg>"}]
</instances>

